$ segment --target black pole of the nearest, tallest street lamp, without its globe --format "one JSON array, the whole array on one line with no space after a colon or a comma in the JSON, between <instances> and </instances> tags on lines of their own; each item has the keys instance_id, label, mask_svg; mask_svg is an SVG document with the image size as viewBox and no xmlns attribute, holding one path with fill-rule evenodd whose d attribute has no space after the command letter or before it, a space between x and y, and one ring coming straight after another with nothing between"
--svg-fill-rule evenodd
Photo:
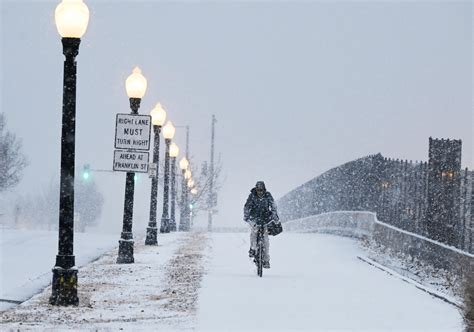
<instances>
[{"instance_id":1,"label":"black pole of the nearest, tallest street lamp, without its globe","mask_svg":"<svg viewBox=\"0 0 474 332\"><path fill-rule=\"evenodd\" d=\"M53 305L78 305L77 268L74 257L74 158L76 138L76 56L80 38L62 38L64 61L61 132L61 182L59 194L58 254L53 268Z\"/></svg>"}]
</instances>

